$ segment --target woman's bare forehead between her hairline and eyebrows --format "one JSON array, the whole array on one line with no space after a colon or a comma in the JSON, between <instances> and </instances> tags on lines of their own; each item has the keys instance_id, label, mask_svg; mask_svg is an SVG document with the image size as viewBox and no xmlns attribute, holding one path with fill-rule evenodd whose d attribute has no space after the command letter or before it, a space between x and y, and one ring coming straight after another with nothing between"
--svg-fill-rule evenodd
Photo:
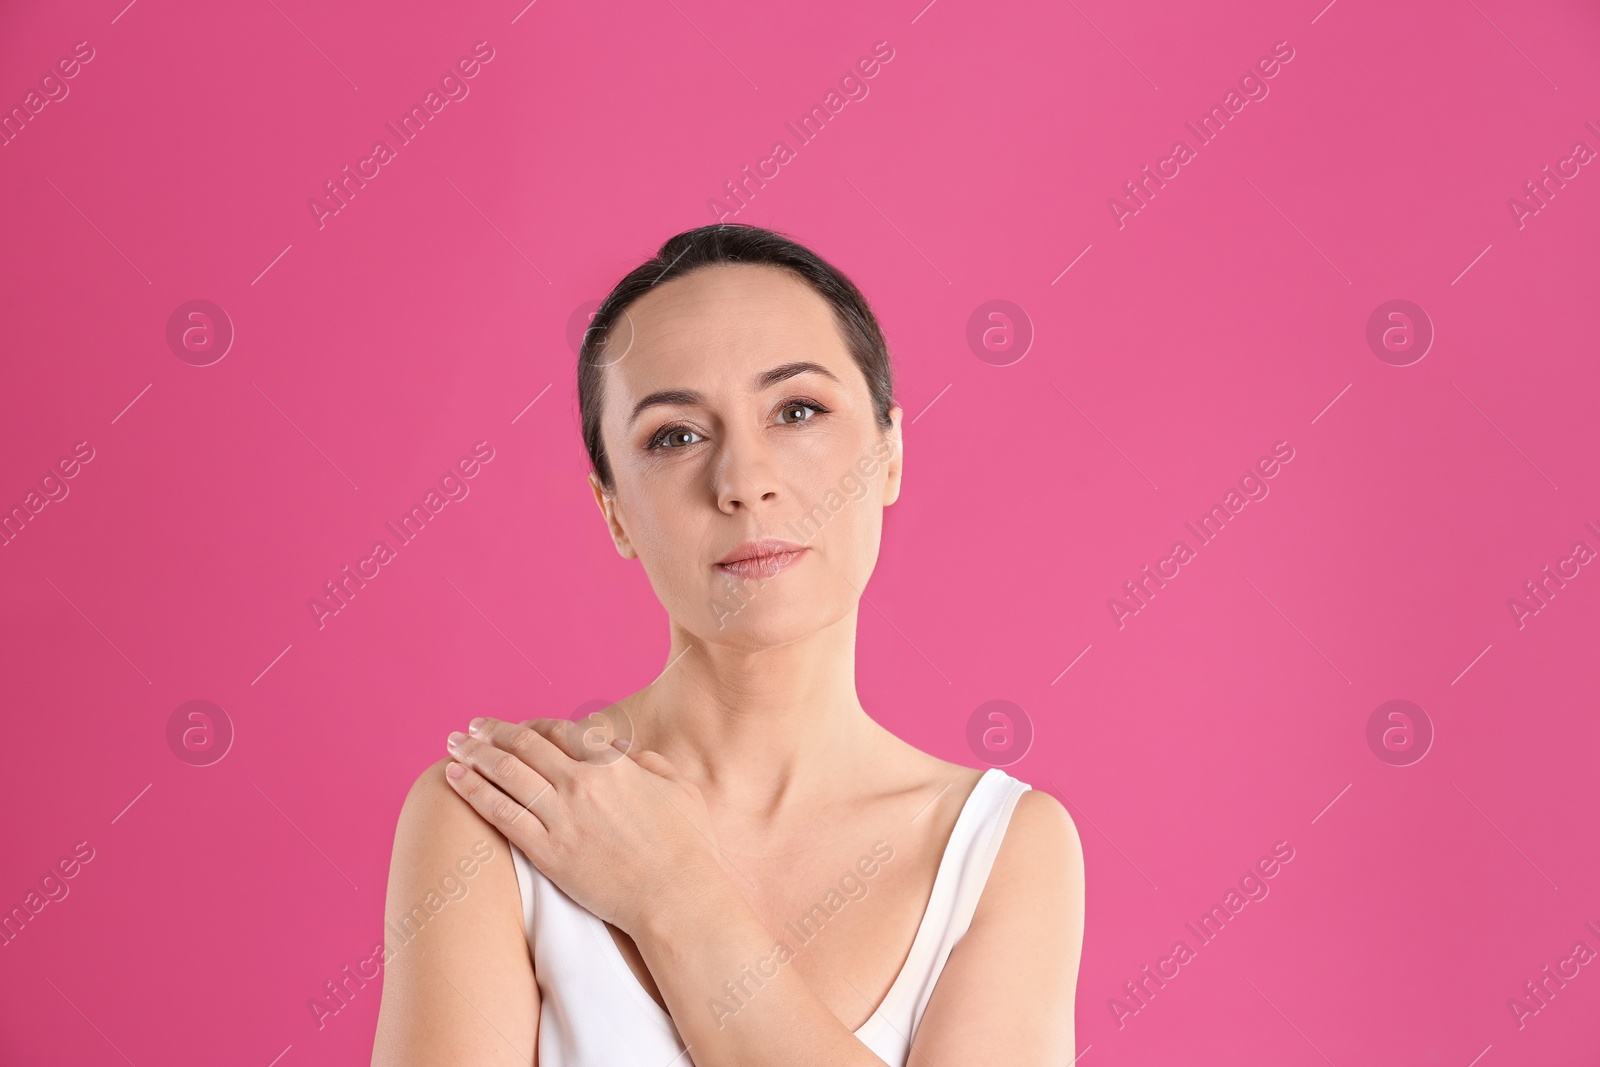
<instances>
[{"instance_id":1,"label":"woman's bare forehead between her hairline and eyebrows","mask_svg":"<svg viewBox=\"0 0 1600 1067\"><path fill-rule=\"evenodd\" d=\"M850 349L834 309L806 282L765 266L717 266L666 282L627 307L611 344L608 394L622 402L654 389L714 390L768 366L813 360L850 381ZM626 336L627 333L632 336Z\"/></svg>"}]
</instances>

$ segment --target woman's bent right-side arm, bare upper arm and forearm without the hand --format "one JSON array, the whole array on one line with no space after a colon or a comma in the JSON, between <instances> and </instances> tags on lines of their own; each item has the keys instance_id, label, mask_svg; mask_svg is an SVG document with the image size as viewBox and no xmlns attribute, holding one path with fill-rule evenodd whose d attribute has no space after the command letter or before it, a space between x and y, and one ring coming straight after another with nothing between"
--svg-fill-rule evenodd
<instances>
[{"instance_id":1,"label":"woman's bent right-side arm, bare upper arm and forearm without the hand","mask_svg":"<svg viewBox=\"0 0 1600 1067\"><path fill-rule=\"evenodd\" d=\"M792 966L778 966L773 977L763 973L736 1014L718 1016L712 1000L728 1003L723 982L738 984L773 955L771 934L725 877L706 877L653 909L635 941L696 1067L882 1067ZM1054 797L1029 790L1018 800L973 923L939 974L912 1061L1070 1064L1082 945L1077 829Z\"/></svg>"}]
</instances>

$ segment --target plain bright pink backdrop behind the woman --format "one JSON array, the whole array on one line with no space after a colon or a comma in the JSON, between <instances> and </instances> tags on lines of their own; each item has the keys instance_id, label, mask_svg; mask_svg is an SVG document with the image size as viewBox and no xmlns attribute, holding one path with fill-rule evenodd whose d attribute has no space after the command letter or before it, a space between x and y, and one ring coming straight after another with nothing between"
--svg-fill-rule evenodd
<instances>
[{"instance_id":1,"label":"plain bright pink backdrop behind the woman","mask_svg":"<svg viewBox=\"0 0 1600 1067\"><path fill-rule=\"evenodd\" d=\"M582 480L574 312L778 139L731 218L861 285L907 413L861 696L971 766L981 704L1032 723L1008 769L1086 853L1080 1062L1595 1061L1600 965L1520 1027L1507 1001L1600 950L1600 568L1520 627L1507 601L1600 549L1600 168L1520 227L1507 200L1600 149L1600 14L923 3L8 5L6 112L94 58L0 147L0 506L93 459L0 549L0 907L94 851L0 949L3 1062L366 1062L378 984L322 1029L309 1001L382 936L445 733L664 665ZM480 40L469 94L318 227L307 200ZM1269 94L1118 227L1277 42ZM237 331L210 366L166 342L190 299ZM1006 366L966 341L994 299L1034 330ZM1366 342L1390 299L1437 331L1408 366ZM318 629L323 582L477 442L470 494ZM1275 442L1270 494L1118 627ZM195 699L234 729L210 766L168 745ZM1394 699L1421 761L1368 744ZM1270 894L1118 1025L1275 841Z\"/></svg>"}]
</instances>

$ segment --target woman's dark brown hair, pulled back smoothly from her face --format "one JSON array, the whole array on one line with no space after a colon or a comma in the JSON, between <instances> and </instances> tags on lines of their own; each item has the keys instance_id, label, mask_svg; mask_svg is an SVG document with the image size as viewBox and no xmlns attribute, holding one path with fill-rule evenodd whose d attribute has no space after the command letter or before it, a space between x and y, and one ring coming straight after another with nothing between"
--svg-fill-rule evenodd
<instances>
[{"instance_id":1,"label":"woman's dark brown hair, pulled back smoothly from her face","mask_svg":"<svg viewBox=\"0 0 1600 1067\"><path fill-rule=\"evenodd\" d=\"M861 290L834 264L784 234L746 222L714 222L669 237L651 259L629 270L616 283L616 288L600 301L600 307L584 333L584 342L578 350L578 410L582 414L589 462L606 491L616 486L605 442L600 438L605 368L611 363L602 354L618 317L651 286L723 264L787 270L827 301L834 309L834 318L850 355L867 379L878 427L893 426L890 408L894 406L894 376L890 366L890 350L883 341L883 330Z\"/></svg>"}]
</instances>

